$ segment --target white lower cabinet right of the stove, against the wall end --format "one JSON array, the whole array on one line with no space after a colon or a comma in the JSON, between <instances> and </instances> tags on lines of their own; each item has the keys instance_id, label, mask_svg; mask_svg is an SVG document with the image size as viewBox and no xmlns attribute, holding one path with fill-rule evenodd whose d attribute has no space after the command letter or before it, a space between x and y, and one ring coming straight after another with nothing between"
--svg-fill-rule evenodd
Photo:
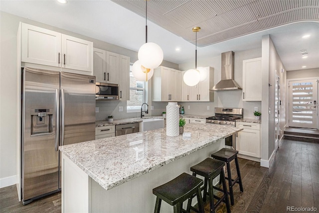
<instances>
[{"instance_id":1,"label":"white lower cabinet right of the stove, against the wall end","mask_svg":"<svg viewBox=\"0 0 319 213\"><path fill-rule=\"evenodd\" d=\"M238 154L260 158L260 124L236 122L236 127L243 128L236 135Z\"/></svg>"}]
</instances>

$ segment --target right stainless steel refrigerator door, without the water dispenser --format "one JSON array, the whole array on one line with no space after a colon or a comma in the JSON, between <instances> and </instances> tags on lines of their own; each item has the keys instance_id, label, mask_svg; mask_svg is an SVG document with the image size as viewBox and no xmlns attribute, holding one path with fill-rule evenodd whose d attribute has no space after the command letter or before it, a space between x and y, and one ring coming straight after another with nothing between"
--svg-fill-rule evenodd
<instances>
[{"instance_id":1,"label":"right stainless steel refrigerator door, without the water dispenser","mask_svg":"<svg viewBox=\"0 0 319 213\"><path fill-rule=\"evenodd\" d=\"M95 76L61 72L60 145L95 140Z\"/></svg>"}]
</instances>

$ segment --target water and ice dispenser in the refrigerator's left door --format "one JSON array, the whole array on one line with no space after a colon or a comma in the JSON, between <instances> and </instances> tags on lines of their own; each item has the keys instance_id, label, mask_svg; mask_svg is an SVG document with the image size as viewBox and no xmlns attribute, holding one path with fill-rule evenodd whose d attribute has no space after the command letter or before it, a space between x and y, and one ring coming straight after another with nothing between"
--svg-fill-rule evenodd
<instances>
[{"instance_id":1,"label":"water and ice dispenser in the refrigerator's left door","mask_svg":"<svg viewBox=\"0 0 319 213\"><path fill-rule=\"evenodd\" d=\"M53 108L31 109L31 135L53 132Z\"/></svg>"}]
</instances>

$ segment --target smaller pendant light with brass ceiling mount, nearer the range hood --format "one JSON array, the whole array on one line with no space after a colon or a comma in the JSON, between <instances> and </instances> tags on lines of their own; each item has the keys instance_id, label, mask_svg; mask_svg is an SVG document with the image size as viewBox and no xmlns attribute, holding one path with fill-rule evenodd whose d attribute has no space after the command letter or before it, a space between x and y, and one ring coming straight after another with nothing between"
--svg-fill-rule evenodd
<instances>
[{"instance_id":1,"label":"smaller pendant light with brass ceiling mount, nearer the range hood","mask_svg":"<svg viewBox=\"0 0 319 213\"><path fill-rule=\"evenodd\" d=\"M196 33L195 37L195 69L187 70L183 75L184 83L187 86L195 86L200 81L204 81L207 78L207 71L203 67L197 67L197 32L200 31L200 27L194 27L193 32Z\"/></svg>"}]
</instances>

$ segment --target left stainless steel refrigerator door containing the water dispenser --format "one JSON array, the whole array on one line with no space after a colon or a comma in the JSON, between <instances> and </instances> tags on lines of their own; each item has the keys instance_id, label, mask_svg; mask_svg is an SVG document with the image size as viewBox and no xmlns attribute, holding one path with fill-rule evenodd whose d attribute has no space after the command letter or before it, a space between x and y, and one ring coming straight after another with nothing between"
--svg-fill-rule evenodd
<instances>
[{"instance_id":1,"label":"left stainless steel refrigerator door containing the water dispenser","mask_svg":"<svg viewBox=\"0 0 319 213\"><path fill-rule=\"evenodd\" d=\"M58 190L60 73L25 68L22 78L21 177L22 201L27 203Z\"/></svg>"}]
</instances>

